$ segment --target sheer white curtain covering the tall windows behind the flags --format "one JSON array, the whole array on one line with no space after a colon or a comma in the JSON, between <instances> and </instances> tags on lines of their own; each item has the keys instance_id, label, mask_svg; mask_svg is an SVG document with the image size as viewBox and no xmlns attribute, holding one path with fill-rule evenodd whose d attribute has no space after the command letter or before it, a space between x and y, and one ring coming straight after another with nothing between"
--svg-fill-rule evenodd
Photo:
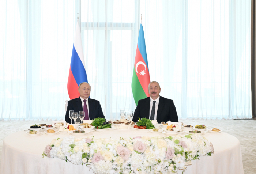
<instances>
[{"instance_id":1,"label":"sheer white curtain covering the tall windows behind the flags","mask_svg":"<svg viewBox=\"0 0 256 174\"><path fill-rule=\"evenodd\" d=\"M107 118L135 110L132 70L140 24L150 79L179 119L251 118L251 1L0 1L1 120L65 115L76 13L91 98Z\"/></svg>"}]
</instances>

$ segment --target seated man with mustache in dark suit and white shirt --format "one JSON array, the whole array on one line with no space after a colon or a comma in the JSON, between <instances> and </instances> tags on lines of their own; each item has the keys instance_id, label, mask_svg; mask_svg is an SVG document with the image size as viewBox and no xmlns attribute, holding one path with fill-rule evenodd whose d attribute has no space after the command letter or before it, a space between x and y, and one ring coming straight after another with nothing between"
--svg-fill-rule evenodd
<instances>
[{"instance_id":1,"label":"seated man with mustache in dark suit and white shirt","mask_svg":"<svg viewBox=\"0 0 256 174\"><path fill-rule=\"evenodd\" d=\"M158 82L152 81L148 84L148 93L150 97L139 100L134 111L132 121L137 122L140 118L148 118L162 121L178 122L178 115L173 101L160 96L161 88Z\"/></svg>"}]
</instances>

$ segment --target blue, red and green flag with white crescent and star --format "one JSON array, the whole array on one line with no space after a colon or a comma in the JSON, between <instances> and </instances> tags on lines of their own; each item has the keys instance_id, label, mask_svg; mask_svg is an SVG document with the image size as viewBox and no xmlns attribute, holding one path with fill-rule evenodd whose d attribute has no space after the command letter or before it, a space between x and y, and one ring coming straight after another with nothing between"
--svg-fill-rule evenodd
<instances>
[{"instance_id":1,"label":"blue, red and green flag with white crescent and star","mask_svg":"<svg viewBox=\"0 0 256 174\"><path fill-rule=\"evenodd\" d=\"M148 84L150 76L147 63L147 52L144 38L143 26L140 24L138 45L135 56L135 63L132 75L132 94L136 105L140 99L149 97Z\"/></svg>"}]
</instances>

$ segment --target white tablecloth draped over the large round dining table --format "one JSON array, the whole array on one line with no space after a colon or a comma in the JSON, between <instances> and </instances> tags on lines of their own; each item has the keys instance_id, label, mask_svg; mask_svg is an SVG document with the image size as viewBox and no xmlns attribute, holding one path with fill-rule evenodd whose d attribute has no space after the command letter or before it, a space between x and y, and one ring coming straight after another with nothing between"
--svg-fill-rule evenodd
<instances>
[{"instance_id":1,"label":"white tablecloth draped over the large round dining table","mask_svg":"<svg viewBox=\"0 0 256 174\"><path fill-rule=\"evenodd\" d=\"M134 129L110 129L109 131L94 131L86 136L95 138L118 138L135 136L157 136L150 132ZM42 153L52 139L71 136L68 133L56 135L29 136L26 131L19 131L5 137L1 156L0 174L70 174L93 173L86 165L75 165L58 158L42 158ZM200 160L192 160L184 174L243 174L242 153L238 139L227 133L205 133L214 146L212 156L202 156ZM180 171L182 173L182 171Z\"/></svg>"}]
</instances>

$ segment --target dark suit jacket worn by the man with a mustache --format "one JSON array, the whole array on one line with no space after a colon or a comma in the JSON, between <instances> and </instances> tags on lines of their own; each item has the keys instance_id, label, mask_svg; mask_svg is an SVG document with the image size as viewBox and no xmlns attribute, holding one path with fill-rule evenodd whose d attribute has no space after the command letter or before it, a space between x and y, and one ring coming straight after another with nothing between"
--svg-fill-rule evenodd
<instances>
[{"instance_id":1,"label":"dark suit jacket worn by the man with a mustache","mask_svg":"<svg viewBox=\"0 0 256 174\"><path fill-rule=\"evenodd\" d=\"M137 122L140 118L149 118L149 109L150 109L150 97L139 100L138 105L134 111L134 116L132 121ZM172 121L178 122L178 115L176 108L173 104L173 101L160 96L158 109L157 109L157 122L161 123L162 121Z\"/></svg>"}]
</instances>

